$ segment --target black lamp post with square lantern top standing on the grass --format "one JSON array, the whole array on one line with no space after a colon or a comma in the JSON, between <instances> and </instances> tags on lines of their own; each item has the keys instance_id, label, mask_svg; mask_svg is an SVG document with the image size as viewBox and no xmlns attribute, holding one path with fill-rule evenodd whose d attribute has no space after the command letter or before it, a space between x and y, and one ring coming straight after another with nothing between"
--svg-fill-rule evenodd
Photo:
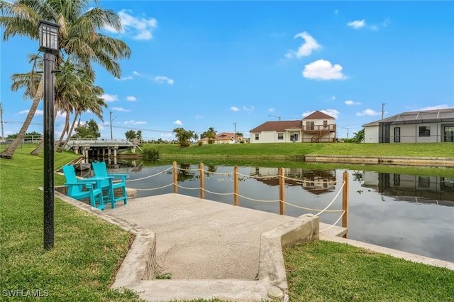
<instances>
[{"instance_id":1,"label":"black lamp post with square lantern top standing on the grass","mask_svg":"<svg viewBox=\"0 0 454 302\"><path fill-rule=\"evenodd\" d=\"M58 28L39 21L40 48L44 52L44 248L54 247L54 102L55 55L58 53Z\"/></svg>"}]
</instances>

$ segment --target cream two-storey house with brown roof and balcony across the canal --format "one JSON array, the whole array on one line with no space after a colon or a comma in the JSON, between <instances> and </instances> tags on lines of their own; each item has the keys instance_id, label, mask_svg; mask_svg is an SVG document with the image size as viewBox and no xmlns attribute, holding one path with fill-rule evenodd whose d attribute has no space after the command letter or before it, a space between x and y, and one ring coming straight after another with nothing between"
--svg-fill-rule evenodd
<instances>
[{"instance_id":1,"label":"cream two-storey house with brown roof and balcony across the canal","mask_svg":"<svg viewBox=\"0 0 454 302\"><path fill-rule=\"evenodd\" d=\"M335 119L315 111L301 120L271 121L250 130L250 144L336 142Z\"/></svg>"}]
</instances>

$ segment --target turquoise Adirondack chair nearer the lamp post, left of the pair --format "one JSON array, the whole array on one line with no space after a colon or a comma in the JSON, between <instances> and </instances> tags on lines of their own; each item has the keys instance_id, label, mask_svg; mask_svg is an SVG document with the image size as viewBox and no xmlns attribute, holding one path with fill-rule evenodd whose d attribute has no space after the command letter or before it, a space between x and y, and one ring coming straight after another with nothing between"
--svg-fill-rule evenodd
<instances>
[{"instance_id":1,"label":"turquoise Adirondack chair nearer the lamp post, left of the pair","mask_svg":"<svg viewBox=\"0 0 454 302\"><path fill-rule=\"evenodd\" d=\"M99 210L104 210L104 196L100 187L101 180L95 180L94 178L88 179L77 179L74 166L65 165L62 167L63 173L65 174L66 183L68 187L68 196L77 200L84 198L90 199L90 205L97 207Z\"/></svg>"}]
</instances>

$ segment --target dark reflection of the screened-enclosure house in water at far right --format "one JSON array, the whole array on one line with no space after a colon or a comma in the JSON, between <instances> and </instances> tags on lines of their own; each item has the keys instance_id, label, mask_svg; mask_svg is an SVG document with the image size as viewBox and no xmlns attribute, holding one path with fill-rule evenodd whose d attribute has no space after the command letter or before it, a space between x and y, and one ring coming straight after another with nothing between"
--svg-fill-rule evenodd
<instances>
[{"instance_id":1,"label":"dark reflection of the screened-enclosure house in water at far right","mask_svg":"<svg viewBox=\"0 0 454 302\"><path fill-rule=\"evenodd\" d=\"M363 187L409 203L454 206L454 178L364 172Z\"/></svg>"}]
</instances>

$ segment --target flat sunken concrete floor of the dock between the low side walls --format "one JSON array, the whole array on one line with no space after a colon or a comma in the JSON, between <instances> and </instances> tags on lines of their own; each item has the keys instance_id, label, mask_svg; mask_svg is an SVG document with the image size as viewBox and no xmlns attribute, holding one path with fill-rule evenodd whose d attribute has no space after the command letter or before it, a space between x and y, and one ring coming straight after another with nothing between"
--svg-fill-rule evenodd
<instances>
[{"instance_id":1,"label":"flat sunken concrete floor of the dock between the low side walls","mask_svg":"<svg viewBox=\"0 0 454 302\"><path fill-rule=\"evenodd\" d=\"M260 235L295 220L178 194L137 198L106 211L155 232L157 274L172 280L255 280Z\"/></svg>"}]
</instances>

